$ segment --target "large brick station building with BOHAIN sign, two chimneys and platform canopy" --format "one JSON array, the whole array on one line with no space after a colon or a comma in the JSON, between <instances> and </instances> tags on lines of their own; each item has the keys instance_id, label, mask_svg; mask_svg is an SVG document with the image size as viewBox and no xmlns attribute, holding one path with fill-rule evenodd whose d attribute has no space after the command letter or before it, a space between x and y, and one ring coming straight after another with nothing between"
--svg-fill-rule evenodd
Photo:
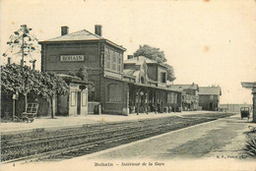
<instances>
[{"instance_id":1,"label":"large brick station building with BOHAIN sign, two chimneys and platform canopy","mask_svg":"<svg viewBox=\"0 0 256 171\"><path fill-rule=\"evenodd\" d=\"M164 65L145 57L129 56L124 61L126 49L101 34L100 25L95 33L86 29L69 33L62 27L61 36L39 42L41 71L69 75L86 67L93 83L88 89L89 113L97 103L106 114L181 111L181 91L167 87ZM75 90L74 96L79 93Z\"/></svg>"}]
</instances>

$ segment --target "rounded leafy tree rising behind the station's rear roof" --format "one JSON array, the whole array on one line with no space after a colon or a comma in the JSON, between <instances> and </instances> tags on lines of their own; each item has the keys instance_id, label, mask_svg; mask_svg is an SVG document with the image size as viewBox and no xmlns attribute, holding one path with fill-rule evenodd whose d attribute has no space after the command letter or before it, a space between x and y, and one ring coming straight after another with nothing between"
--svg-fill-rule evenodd
<instances>
[{"instance_id":1,"label":"rounded leafy tree rising behind the station's rear roof","mask_svg":"<svg viewBox=\"0 0 256 171\"><path fill-rule=\"evenodd\" d=\"M167 60L164 56L164 52L160 51L160 48L152 47L147 44L144 44L143 46L140 45L140 48L136 50L133 55L135 57L144 56L146 58L155 60L160 64L163 64L165 67L167 67L167 80L172 82L176 79L174 77L173 67L165 63Z\"/></svg>"}]
</instances>

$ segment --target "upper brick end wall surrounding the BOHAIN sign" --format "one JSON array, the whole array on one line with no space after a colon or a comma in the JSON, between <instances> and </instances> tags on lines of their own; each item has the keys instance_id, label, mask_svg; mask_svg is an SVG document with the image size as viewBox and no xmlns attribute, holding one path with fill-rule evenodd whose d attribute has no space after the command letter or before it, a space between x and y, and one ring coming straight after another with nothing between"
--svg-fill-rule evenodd
<instances>
[{"instance_id":1,"label":"upper brick end wall surrounding the BOHAIN sign","mask_svg":"<svg viewBox=\"0 0 256 171\"><path fill-rule=\"evenodd\" d=\"M99 69L99 47L97 43L42 45L42 71L68 73L83 66ZM61 61L61 55L84 55L84 61Z\"/></svg>"}]
</instances>

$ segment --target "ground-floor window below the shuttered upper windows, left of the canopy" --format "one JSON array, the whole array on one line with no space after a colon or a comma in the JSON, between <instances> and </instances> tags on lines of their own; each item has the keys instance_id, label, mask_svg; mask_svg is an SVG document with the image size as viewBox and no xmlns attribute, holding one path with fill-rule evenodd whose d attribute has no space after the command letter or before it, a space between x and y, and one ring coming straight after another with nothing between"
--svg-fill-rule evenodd
<instances>
[{"instance_id":1,"label":"ground-floor window below the shuttered upper windows, left of the canopy","mask_svg":"<svg viewBox=\"0 0 256 171\"><path fill-rule=\"evenodd\" d=\"M120 102L122 97L121 87L117 84L107 86L107 99L110 102Z\"/></svg>"}]
</instances>

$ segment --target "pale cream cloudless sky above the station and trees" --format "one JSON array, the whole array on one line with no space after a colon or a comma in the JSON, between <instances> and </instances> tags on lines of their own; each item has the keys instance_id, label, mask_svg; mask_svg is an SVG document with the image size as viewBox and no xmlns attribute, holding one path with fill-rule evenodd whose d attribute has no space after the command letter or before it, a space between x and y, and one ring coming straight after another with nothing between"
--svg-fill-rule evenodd
<instances>
[{"instance_id":1,"label":"pale cream cloudless sky above the station and trees","mask_svg":"<svg viewBox=\"0 0 256 171\"><path fill-rule=\"evenodd\" d=\"M40 41L59 36L61 26L101 25L103 37L127 49L125 59L139 45L158 47L174 84L220 85L221 103L252 103L241 82L256 82L255 0L2 0L1 54L24 24ZM32 57L39 70L40 54Z\"/></svg>"}]
</instances>

